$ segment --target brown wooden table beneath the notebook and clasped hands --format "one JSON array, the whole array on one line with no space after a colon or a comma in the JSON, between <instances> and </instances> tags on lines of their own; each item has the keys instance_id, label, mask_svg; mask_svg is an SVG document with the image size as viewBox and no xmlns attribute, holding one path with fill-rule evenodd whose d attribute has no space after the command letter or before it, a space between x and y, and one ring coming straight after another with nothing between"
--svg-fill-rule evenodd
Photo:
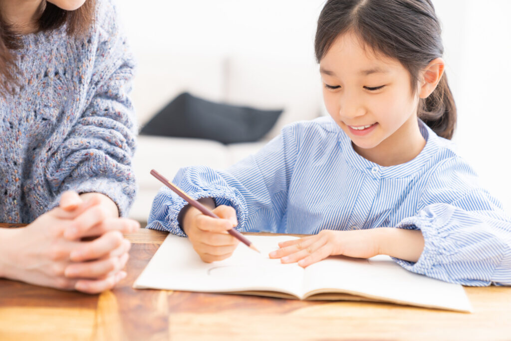
<instances>
[{"instance_id":1,"label":"brown wooden table beneath the notebook and clasped hands","mask_svg":"<svg viewBox=\"0 0 511 341\"><path fill-rule=\"evenodd\" d=\"M0 280L0 340L511 339L509 287L467 287L472 314L132 289L165 236L128 235L128 277L100 295Z\"/></svg>"}]
</instances>

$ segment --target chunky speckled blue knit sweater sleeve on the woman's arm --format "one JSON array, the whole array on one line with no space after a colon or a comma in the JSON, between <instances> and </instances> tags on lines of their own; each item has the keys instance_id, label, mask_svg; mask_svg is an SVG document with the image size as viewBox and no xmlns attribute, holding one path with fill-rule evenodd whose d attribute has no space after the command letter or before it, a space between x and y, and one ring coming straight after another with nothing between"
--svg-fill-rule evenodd
<instances>
[{"instance_id":1,"label":"chunky speckled blue knit sweater sleeve on the woman's arm","mask_svg":"<svg viewBox=\"0 0 511 341\"><path fill-rule=\"evenodd\" d=\"M101 2L96 39L96 60L86 74L81 113L48 159L45 176L58 205L66 190L99 192L110 197L126 216L135 198L131 168L136 124L128 96L134 73L133 57L119 32L113 6ZM89 40L90 41L90 40Z\"/></svg>"}]
</instances>

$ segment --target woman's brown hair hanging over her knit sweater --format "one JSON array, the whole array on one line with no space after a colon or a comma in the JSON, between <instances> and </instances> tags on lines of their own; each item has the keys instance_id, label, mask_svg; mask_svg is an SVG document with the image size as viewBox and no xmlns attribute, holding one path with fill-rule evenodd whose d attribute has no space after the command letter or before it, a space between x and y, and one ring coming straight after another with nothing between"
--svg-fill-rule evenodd
<instances>
[{"instance_id":1,"label":"woman's brown hair hanging over her knit sweater","mask_svg":"<svg viewBox=\"0 0 511 341\"><path fill-rule=\"evenodd\" d=\"M44 10L37 20L37 31L53 30L65 25L68 35L83 35L92 21L96 8L95 0L87 0L75 11L63 10L49 2L44 2ZM16 84L16 59L12 50L23 48L15 28L4 21L0 13L0 95L12 93L10 85Z\"/></svg>"}]
</instances>

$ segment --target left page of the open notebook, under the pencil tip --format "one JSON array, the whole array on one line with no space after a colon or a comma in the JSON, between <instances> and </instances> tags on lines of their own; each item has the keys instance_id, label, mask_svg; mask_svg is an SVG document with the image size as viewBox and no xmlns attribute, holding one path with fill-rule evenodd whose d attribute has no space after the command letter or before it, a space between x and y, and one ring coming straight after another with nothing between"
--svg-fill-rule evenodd
<instances>
[{"instance_id":1,"label":"left page of the open notebook, under the pencil tip","mask_svg":"<svg viewBox=\"0 0 511 341\"><path fill-rule=\"evenodd\" d=\"M261 254L240 243L230 258L204 263L187 238L168 235L133 287L202 292L276 290L300 297L304 269L268 257L278 242L294 237L246 237Z\"/></svg>"}]
</instances>

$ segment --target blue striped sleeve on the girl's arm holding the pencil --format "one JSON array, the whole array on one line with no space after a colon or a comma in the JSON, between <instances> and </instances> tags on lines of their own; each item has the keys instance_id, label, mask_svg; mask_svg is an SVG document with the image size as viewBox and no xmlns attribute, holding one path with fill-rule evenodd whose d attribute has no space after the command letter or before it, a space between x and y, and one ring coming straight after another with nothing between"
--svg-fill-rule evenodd
<instances>
[{"instance_id":1,"label":"blue striped sleeve on the girl's arm holding the pencil","mask_svg":"<svg viewBox=\"0 0 511 341\"><path fill-rule=\"evenodd\" d=\"M173 183L194 199L212 197L217 206L235 208L239 231L274 232L287 208L298 152L297 127L285 127L258 153L225 171L203 166L182 168ZM186 205L181 197L162 187L153 200L148 228L185 236L177 216Z\"/></svg>"}]
</instances>

